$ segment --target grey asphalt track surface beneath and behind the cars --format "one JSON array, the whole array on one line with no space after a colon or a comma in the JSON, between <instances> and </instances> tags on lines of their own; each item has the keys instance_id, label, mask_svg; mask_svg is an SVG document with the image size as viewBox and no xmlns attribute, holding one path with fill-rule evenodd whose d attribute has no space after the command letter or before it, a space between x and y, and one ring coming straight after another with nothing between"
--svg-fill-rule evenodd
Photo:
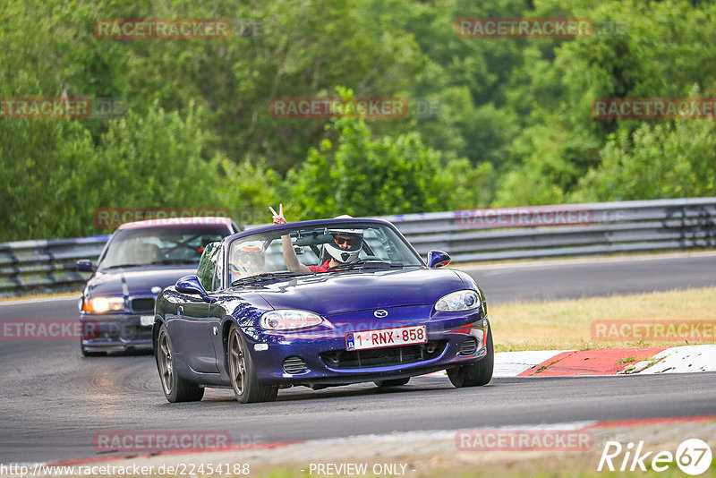
<instances>
[{"instance_id":1,"label":"grey asphalt track surface beneath and behind the cars","mask_svg":"<svg viewBox=\"0 0 716 478\"><path fill-rule=\"evenodd\" d=\"M463 269L490 303L716 286L716 254ZM0 303L0 320L76 317L74 298ZM74 340L2 340L0 359L5 464L95 457L93 435L107 431L227 431L239 444L716 414L716 373L494 379L461 389L432 375L388 391L289 388L270 404L240 405L226 389L168 404L150 355L82 358Z\"/></svg>"}]
</instances>

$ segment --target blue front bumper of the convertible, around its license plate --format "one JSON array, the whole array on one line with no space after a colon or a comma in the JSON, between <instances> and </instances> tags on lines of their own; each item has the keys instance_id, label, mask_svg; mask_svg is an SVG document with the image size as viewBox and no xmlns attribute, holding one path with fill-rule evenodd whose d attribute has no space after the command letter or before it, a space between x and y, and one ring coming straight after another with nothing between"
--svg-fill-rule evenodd
<instances>
[{"instance_id":1,"label":"blue front bumper of the convertible, around its license plate","mask_svg":"<svg viewBox=\"0 0 716 478\"><path fill-rule=\"evenodd\" d=\"M327 317L325 326L277 332L243 329L257 378L267 384L342 385L423 375L476 363L487 354L482 310L433 312L432 306L389 308L390 319L366 312ZM421 319L422 318L422 319ZM427 344L347 351L345 333L425 325Z\"/></svg>"}]
</instances>

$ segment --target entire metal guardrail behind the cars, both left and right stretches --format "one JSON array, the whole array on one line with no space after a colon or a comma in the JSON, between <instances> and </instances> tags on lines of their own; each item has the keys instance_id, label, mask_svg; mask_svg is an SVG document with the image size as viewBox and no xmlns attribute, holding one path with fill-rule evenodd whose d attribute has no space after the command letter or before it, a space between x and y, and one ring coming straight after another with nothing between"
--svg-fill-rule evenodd
<instances>
[{"instance_id":1,"label":"entire metal guardrail behind the cars, both left and right stretches","mask_svg":"<svg viewBox=\"0 0 716 478\"><path fill-rule=\"evenodd\" d=\"M382 216L425 256L454 262L716 247L716 198L621 201ZM248 226L251 227L251 226ZM107 235L0 243L0 296L79 290Z\"/></svg>"}]
</instances>

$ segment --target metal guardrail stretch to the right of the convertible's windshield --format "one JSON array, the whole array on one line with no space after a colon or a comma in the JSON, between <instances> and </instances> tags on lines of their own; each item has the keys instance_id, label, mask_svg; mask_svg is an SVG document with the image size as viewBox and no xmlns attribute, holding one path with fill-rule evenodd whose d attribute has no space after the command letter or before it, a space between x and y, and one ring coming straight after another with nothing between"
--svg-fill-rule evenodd
<instances>
[{"instance_id":1,"label":"metal guardrail stretch to the right of the convertible's windshield","mask_svg":"<svg viewBox=\"0 0 716 478\"><path fill-rule=\"evenodd\" d=\"M385 218L422 255L439 249L454 262L716 247L716 198L473 209Z\"/></svg>"}]
</instances>

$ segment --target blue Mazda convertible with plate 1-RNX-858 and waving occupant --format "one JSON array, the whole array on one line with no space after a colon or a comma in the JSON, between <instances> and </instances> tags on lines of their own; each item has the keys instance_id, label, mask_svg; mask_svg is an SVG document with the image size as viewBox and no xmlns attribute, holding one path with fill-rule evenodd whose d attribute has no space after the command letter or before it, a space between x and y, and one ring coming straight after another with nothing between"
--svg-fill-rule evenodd
<instances>
[{"instance_id":1,"label":"blue Mazda convertible with plate 1-RNX-858 and waving occupant","mask_svg":"<svg viewBox=\"0 0 716 478\"><path fill-rule=\"evenodd\" d=\"M239 402L279 388L405 385L447 370L456 387L492 378L482 290L432 251L427 264L388 221L266 226L210 243L197 275L158 296L154 353L166 399L233 388Z\"/></svg>"}]
</instances>

